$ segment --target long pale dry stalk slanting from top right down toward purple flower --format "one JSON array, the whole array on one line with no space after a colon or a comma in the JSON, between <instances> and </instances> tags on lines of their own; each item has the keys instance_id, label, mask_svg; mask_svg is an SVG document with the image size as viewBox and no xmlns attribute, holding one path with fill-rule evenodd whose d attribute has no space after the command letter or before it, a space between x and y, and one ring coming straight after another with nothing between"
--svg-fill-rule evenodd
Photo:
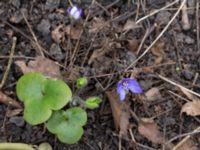
<instances>
[{"instance_id":1,"label":"long pale dry stalk slanting from top right down toward purple flower","mask_svg":"<svg viewBox=\"0 0 200 150\"><path fill-rule=\"evenodd\" d=\"M127 71L128 69L130 69L135 63L137 63L152 47L153 45L161 38L161 36L165 33L165 31L168 29L168 27L171 25L171 23L174 21L174 19L177 17L177 15L179 14L179 12L181 11L181 9L183 8L183 6L185 5L186 0L183 0L179 9L177 10L177 12L174 14L174 16L172 17L172 19L169 21L169 23L165 26L165 28L162 30L162 32L157 36L157 38L151 43L151 45L134 61L132 62L126 69L125 71Z\"/></svg>"}]
</instances>

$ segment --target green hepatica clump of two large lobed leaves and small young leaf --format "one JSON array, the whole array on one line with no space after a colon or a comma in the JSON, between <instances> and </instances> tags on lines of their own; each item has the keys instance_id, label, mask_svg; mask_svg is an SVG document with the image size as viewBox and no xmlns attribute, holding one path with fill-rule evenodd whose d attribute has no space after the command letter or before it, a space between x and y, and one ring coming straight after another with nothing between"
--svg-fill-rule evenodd
<instances>
[{"instance_id":1,"label":"green hepatica clump of two large lobed leaves and small young leaf","mask_svg":"<svg viewBox=\"0 0 200 150\"><path fill-rule=\"evenodd\" d=\"M18 80L16 92L24 103L24 119L29 124L47 122L47 129L64 143L74 144L81 138L87 113L81 107L62 110L72 100L71 89L64 81L28 73ZM86 108L97 108L100 101L98 97L86 100Z\"/></svg>"}]
</instances>

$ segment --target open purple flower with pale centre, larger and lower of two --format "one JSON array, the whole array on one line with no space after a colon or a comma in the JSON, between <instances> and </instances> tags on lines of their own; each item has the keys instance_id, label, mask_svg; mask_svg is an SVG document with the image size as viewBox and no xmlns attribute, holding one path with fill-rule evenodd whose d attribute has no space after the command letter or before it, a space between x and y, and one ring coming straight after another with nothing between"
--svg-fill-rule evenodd
<instances>
[{"instance_id":1,"label":"open purple flower with pale centre, larger and lower of two","mask_svg":"<svg viewBox=\"0 0 200 150\"><path fill-rule=\"evenodd\" d=\"M142 89L136 80L131 78L124 78L117 84L117 93L120 100L123 101L126 94L131 91L132 93L142 93Z\"/></svg>"}]
</instances>

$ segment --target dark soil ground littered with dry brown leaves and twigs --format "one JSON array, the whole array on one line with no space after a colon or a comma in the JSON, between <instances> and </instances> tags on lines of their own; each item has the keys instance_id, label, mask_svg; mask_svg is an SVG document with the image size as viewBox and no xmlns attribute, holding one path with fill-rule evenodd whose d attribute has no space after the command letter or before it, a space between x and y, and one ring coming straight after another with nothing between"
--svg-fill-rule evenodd
<instances>
[{"instance_id":1,"label":"dark soil ground littered with dry brown leaves and twigs","mask_svg":"<svg viewBox=\"0 0 200 150\"><path fill-rule=\"evenodd\" d=\"M48 142L54 150L200 149L199 3L1 0L0 142ZM79 20L67 12L72 5L82 9ZM24 121L15 86L31 69L58 73L73 93L76 80L87 77L78 96L102 98L98 109L87 111L77 144ZM122 78L136 79L143 93L120 101Z\"/></svg>"}]
</instances>

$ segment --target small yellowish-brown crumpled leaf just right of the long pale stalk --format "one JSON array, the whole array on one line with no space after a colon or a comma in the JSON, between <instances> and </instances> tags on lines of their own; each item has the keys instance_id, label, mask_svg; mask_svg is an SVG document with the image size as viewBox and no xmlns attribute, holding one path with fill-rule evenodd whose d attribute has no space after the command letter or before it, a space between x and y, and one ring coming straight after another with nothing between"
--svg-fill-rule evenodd
<instances>
[{"instance_id":1,"label":"small yellowish-brown crumpled leaf just right of the long pale stalk","mask_svg":"<svg viewBox=\"0 0 200 150\"><path fill-rule=\"evenodd\" d=\"M165 43L163 41L158 41L152 48L151 52L157 57L155 59L155 64L160 64L164 58L164 46Z\"/></svg>"}]
</instances>

